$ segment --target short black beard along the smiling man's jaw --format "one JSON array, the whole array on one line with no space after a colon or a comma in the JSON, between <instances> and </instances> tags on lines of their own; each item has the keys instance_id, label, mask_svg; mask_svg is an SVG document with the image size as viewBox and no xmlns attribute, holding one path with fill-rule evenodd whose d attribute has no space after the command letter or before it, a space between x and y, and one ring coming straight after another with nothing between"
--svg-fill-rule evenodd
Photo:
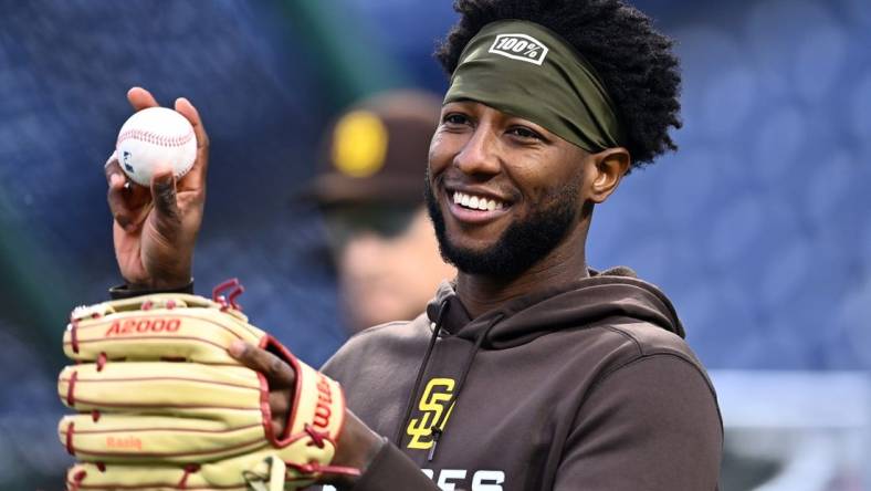
<instances>
[{"instance_id":1,"label":"short black beard along the smiling man's jaw","mask_svg":"<svg viewBox=\"0 0 871 491\"><path fill-rule=\"evenodd\" d=\"M429 175L424 188L427 210L441 257L464 273L492 278L516 278L550 253L566 237L580 209L578 184L567 182L545 197L552 205L536 209L523 221L513 222L493 247L475 251L451 243Z\"/></svg>"}]
</instances>

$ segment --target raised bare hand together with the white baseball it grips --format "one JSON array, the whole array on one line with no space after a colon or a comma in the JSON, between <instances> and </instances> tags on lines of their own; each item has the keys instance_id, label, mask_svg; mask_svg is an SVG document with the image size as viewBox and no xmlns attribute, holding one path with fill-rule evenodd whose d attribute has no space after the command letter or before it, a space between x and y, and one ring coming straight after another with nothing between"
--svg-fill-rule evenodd
<instances>
[{"instance_id":1,"label":"raised bare hand together with the white baseball it grips","mask_svg":"<svg viewBox=\"0 0 871 491\"><path fill-rule=\"evenodd\" d=\"M179 288L190 282L202 222L208 135L186 98L176 101L175 113L157 109L143 87L130 88L127 101L136 114L122 127L117 155L105 166L118 265L129 285ZM177 143L154 148L155 134Z\"/></svg>"}]
</instances>

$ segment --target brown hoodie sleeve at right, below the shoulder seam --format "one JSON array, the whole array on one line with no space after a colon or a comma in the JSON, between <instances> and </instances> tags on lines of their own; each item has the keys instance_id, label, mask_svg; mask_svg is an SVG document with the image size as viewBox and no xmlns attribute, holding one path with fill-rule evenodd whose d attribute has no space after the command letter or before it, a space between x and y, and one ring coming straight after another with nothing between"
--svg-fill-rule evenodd
<instances>
[{"instance_id":1,"label":"brown hoodie sleeve at right, below the shoulder seam","mask_svg":"<svg viewBox=\"0 0 871 491\"><path fill-rule=\"evenodd\" d=\"M640 357L581 404L555 491L712 491L723 430L716 398L683 357Z\"/></svg>"}]
</instances>

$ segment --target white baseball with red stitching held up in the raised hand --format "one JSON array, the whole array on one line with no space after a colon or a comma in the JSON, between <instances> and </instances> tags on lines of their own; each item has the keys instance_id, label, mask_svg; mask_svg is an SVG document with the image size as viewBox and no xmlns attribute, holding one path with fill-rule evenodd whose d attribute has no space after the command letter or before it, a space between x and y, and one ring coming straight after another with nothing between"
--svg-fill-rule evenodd
<instances>
[{"instance_id":1,"label":"white baseball with red stitching held up in the raised hand","mask_svg":"<svg viewBox=\"0 0 871 491\"><path fill-rule=\"evenodd\" d=\"M159 164L171 166L177 178L190 170L197 158L197 137L181 114L166 107L149 107L124 123L115 152L124 174L148 187Z\"/></svg>"}]
</instances>

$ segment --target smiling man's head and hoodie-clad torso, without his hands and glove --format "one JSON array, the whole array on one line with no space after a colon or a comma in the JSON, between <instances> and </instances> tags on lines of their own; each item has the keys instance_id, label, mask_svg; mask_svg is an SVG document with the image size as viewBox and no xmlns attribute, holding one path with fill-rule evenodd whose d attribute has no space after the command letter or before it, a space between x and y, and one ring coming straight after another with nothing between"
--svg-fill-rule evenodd
<instances>
[{"instance_id":1,"label":"smiling man's head and hoodie-clad torso, without his hands and glove","mask_svg":"<svg viewBox=\"0 0 871 491\"><path fill-rule=\"evenodd\" d=\"M619 1L457 7L426 198L458 276L325 373L443 490L716 489L716 398L671 302L585 255L595 206L674 148L671 41Z\"/></svg>"}]
</instances>

